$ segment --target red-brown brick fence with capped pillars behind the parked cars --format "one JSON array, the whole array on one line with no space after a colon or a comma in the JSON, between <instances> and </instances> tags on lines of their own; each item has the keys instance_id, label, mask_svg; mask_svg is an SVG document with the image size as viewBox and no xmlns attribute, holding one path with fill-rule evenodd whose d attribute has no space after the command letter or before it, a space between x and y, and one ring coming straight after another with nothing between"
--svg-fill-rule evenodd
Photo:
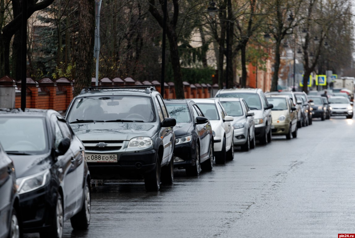
<instances>
[{"instance_id":1,"label":"red-brown brick fence with capped pillars behind the parked cars","mask_svg":"<svg viewBox=\"0 0 355 238\"><path fill-rule=\"evenodd\" d=\"M16 84L15 107L21 107L21 80L15 81L9 76L0 78L1 86L12 86ZM95 86L96 79L92 78L91 85ZM135 81L128 77L121 79L119 77L99 80L99 86L120 86L120 85L148 85L154 84L158 92L161 90L159 81ZM185 98L209 98L215 95L218 85L210 84L189 84L184 81ZM38 81L32 78L26 80L26 107L39 109L54 109L59 112L65 112L73 99L73 81L61 77L56 80L51 78L42 78ZM164 98L176 98L173 82L164 83Z\"/></svg>"}]
</instances>

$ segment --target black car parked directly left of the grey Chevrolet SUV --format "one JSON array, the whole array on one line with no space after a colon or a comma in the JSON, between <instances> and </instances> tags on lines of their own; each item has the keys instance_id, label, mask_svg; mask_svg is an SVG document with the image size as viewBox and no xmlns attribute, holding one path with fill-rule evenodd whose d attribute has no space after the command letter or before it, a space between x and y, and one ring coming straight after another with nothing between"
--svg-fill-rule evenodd
<instances>
[{"instance_id":1,"label":"black car parked directly left of the grey Chevrolet SUV","mask_svg":"<svg viewBox=\"0 0 355 238\"><path fill-rule=\"evenodd\" d=\"M54 110L0 109L0 142L16 168L22 231L62 237L90 222L90 176L84 146Z\"/></svg>"}]
</instances>

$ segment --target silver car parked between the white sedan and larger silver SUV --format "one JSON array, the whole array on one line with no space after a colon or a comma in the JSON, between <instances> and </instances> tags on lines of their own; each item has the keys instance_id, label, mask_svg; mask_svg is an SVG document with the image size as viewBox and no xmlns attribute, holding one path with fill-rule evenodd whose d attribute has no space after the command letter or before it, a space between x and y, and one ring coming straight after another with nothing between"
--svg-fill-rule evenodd
<instances>
[{"instance_id":1,"label":"silver car parked between the white sedan and larger silver SUV","mask_svg":"<svg viewBox=\"0 0 355 238\"><path fill-rule=\"evenodd\" d=\"M234 145L243 151L255 148L254 113L250 111L243 98L218 98L228 115L234 118Z\"/></svg>"}]
</instances>

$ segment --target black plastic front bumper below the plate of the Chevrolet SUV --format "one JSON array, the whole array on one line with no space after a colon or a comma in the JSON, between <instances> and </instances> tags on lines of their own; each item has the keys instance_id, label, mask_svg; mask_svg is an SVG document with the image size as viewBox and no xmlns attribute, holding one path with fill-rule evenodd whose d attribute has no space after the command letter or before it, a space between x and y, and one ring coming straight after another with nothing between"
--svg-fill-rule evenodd
<instances>
[{"instance_id":1,"label":"black plastic front bumper below the plate of the Chevrolet SUV","mask_svg":"<svg viewBox=\"0 0 355 238\"><path fill-rule=\"evenodd\" d=\"M136 153L123 153L117 162L88 162L91 179L121 179L123 177L142 179L146 172L155 168L157 153L157 150L152 149Z\"/></svg>"}]
</instances>

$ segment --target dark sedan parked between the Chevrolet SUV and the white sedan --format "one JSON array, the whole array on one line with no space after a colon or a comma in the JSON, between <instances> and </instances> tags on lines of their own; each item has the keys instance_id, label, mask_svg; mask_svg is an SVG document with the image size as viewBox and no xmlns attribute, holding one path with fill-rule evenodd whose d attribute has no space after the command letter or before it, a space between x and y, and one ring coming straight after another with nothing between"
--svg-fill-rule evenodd
<instances>
[{"instance_id":1,"label":"dark sedan parked between the Chevrolet SUV and the white sedan","mask_svg":"<svg viewBox=\"0 0 355 238\"><path fill-rule=\"evenodd\" d=\"M189 176L213 167L213 135L209 120L192 100L164 100L174 126L174 168L184 168Z\"/></svg>"}]
</instances>

